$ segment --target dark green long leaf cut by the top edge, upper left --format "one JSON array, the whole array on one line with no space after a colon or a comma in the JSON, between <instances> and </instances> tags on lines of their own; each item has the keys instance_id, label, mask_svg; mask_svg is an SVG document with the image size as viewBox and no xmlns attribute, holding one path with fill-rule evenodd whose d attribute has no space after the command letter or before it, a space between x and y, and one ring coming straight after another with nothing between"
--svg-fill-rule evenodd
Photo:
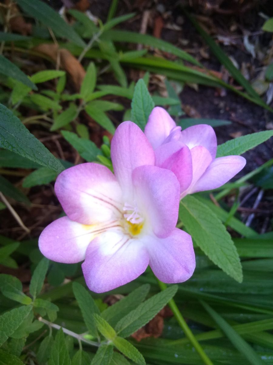
<instances>
[{"instance_id":1,"label":"dark green long leaf cut by the top edge, upper left","mask_svg":"<svg viewBox=\"0 0 273 365\"><path fill-rule=\"evenodd\" d=\"M41 23L51 28L60 37L69 39L71 42L85 47L86 44L79 35L70 27L61 16L49 5L40 0L18 0L17 4L30 16L40 20Z\"/></svg>"}]
</instances>

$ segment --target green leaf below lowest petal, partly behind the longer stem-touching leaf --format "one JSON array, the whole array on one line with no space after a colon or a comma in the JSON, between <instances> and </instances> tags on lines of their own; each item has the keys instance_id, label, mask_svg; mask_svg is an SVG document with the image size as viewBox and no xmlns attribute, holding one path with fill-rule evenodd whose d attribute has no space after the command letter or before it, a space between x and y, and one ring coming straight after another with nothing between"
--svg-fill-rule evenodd
<instances>
[{"instance_id":1,"label":"green leaf below lowest petal, partly behind the longer stem-touching leaf","mask_svg":"<svg viewBox=\"0 0 273 365\"><path fill-rule=\"evenodd\" d=\"M115 326L126 314L137 308L137 306L146 298L149 291L149 284L141 285L112 306L109 306L102 312L102 317L110 323L111 326Z\"/></svg>"}]
</instances>

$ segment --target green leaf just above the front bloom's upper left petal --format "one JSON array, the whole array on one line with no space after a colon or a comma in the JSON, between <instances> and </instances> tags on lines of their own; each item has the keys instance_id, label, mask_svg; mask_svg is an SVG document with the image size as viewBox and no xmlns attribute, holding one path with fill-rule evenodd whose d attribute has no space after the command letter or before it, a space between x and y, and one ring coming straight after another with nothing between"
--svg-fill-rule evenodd
<instances>
[{"instance_id":1,"label":"green leaf just above the front bloom's upper left petal","mask_svg":"<svg viewBox=\"0 0 273 365\"><path fill-rule=\"evenodd\" d=\"M94 142L80 138L73 132L62 131L61 133L67 142L69 142L75 150L79 152L80 156L82 156L84 160L93 162L96 160L97 155L101 154L100 149Z\"/></svg>"}]
</instances>

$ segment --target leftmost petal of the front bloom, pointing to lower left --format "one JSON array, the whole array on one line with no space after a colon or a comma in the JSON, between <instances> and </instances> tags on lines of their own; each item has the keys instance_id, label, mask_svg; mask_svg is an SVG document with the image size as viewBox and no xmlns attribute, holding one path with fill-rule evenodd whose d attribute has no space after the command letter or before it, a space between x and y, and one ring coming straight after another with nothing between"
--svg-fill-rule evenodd
<instances>
[{"instance_id":1,"label":"leftmost petal of the front bloom, pointing to lower left","mask_svg":"<svg viewBox=\"0 0 273 365\"><path fill-rule=\"evenodd\" d=\"M84 260L94 226L85 226L68 217L54 220L41 233L39 249L50 260L74 264Z\"/></svg>"}]
</instances>

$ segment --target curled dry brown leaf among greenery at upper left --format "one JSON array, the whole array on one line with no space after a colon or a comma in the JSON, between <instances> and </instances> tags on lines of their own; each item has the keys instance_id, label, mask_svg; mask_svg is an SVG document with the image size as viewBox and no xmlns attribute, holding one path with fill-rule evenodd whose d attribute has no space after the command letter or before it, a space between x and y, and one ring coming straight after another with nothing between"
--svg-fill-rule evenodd
<instances>
[{"instance_id":1,"label":"curled dry brown leaf among greenery at upper left","mask_svg":"<svg viewBox=\"0 0 273 365\"><path fill-rule=\"evenodd\" d=\"M54 62L57 62L59 57L60 68L66 70L70 74L76 90L80 90L86 72L78 59L76 59L70 51L59 48L58 45L48 43L43 43L35 47L35 50L48 55Z\"/></svg>"}]
</instances>

